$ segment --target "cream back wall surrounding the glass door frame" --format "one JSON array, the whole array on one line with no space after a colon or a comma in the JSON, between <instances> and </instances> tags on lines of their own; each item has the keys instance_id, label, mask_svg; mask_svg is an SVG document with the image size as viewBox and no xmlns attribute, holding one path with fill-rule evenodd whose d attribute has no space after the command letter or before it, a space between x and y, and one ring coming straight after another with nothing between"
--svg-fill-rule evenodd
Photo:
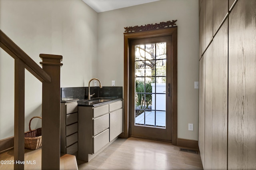
<instances>
[{"instance_id":1,"label":"cream back wall surrounding the glass door frame","mask_svg":"<svg viewBox=\"0 0 256 170\"><path fill-rule=\"evenodd\" d=\"M160 0L98 14L98 78L124 83L124 27L178 20L178 138L198 140L198 0ZM188 123L194 131L188 131Z\"/></svg>"}]
</instances>

